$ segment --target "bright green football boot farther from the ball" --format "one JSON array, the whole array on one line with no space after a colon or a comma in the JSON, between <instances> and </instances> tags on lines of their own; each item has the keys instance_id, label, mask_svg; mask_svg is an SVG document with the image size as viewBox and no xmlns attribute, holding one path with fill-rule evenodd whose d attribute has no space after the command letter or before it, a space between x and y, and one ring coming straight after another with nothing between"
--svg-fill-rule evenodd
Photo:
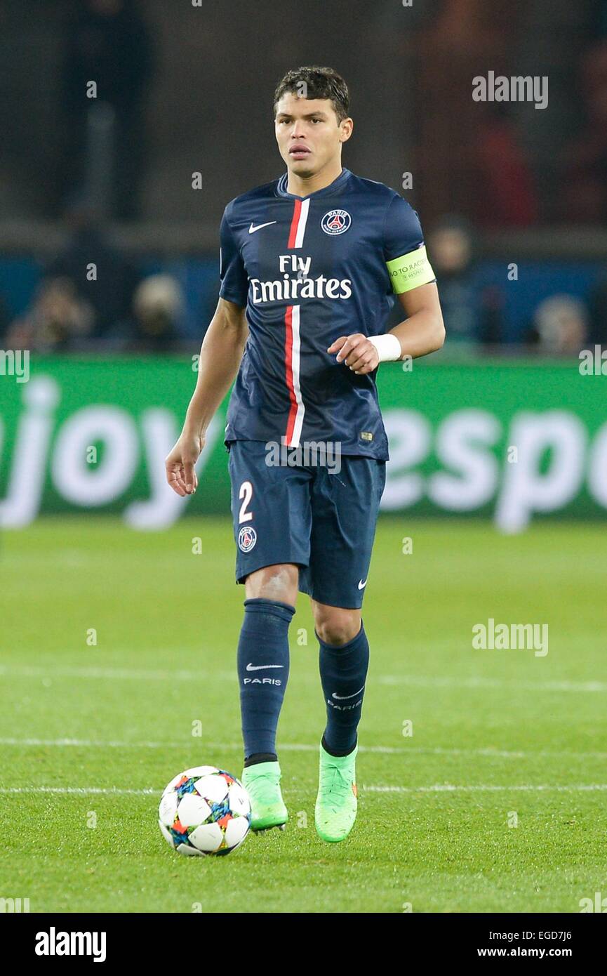
<instances>
[{"instance_id":1,"label":"bright green football boot farther from the ball","mask_svg":"<svg viewBox=\"0 0 607 976\"><path fill-rule=\"evenodd\" d=\"M356 753L330 755L320 745L320 775L314 808L316 833L329 843L344 840L356 820Z\"/></svg>"}]
</instances>

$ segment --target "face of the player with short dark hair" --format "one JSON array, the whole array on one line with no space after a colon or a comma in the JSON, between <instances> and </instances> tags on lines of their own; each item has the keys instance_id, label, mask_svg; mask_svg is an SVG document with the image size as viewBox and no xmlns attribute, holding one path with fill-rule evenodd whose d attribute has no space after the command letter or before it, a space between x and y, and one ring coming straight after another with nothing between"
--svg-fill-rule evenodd
<instances>
[{"instance_id":1,"label":"face of the player with short dark hair","mask_svg":"<svg viewBox=\"0 0 607 976\"><path fill-rule=\"evenodd\" d=\"M302 99L287 93L276 105L274 127L280 155L299 177L310 177L339 157L352 120L338 122L330 99Z\"/></svg>"}]
</instances>

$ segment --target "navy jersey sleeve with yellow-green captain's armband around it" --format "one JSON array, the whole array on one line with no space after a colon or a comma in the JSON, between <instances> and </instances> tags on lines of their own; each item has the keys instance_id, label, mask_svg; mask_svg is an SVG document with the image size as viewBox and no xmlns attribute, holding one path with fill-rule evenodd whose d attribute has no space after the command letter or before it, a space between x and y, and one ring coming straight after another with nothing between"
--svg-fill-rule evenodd
<instances>
[{"instance_id":1,"label":"navy jersey sleeve with yellow-green captain's armband around it","mask_svg":"<svg viewBox=\"0 0 607 976\"><path fill-rule=\"evenodd\" d=\"M384 261L395 295L436 281L425 254L420 218L401 196L392 199L385 215Z\"/></svg>"}]
</instances>

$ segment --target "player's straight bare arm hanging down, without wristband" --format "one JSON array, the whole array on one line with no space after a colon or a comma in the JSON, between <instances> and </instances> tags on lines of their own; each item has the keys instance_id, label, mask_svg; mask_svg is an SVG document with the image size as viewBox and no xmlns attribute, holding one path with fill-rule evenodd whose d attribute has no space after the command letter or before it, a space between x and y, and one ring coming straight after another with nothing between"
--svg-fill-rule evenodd
<instances>
[{"instance_id":1,"label":"player's straight bare arm hanging down, without wristband","mask_svg":"<svg viewBox=\"0 0 607 976\"><path fill-rule=\"evenodd\" d=\"M207 427L238 372L248 332L245 309L220 299L200 347L198 378L182 433L165 461L167 481L182 497L192 495L198 487L194 466Z\"/></svg>"}]
</instances>

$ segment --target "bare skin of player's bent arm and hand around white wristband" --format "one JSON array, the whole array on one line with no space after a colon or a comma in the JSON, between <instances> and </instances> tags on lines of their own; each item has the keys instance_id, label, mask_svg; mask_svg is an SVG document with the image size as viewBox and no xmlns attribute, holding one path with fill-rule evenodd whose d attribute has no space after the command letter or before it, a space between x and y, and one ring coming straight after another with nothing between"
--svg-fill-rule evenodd
<instances>
[{"instance_id":1,"label":"bare skin of player's bent arm and hand around white wristband","mask_svg":"<svg viewBox=\"0 0 607 976\"><path fill-rule=\"evenodd\" d=\"M435 282L414 288L398 298L407 318L387 334L395 336L400 343L398 359L404 359L405 356L417 359L429 352L435 352L445 341L445 326ZM372 373L380 364L377 346L359 332L351 336L340 336L329 346L327 352L337 353L337 361L343 362L344 366L360 376Z\"/></svg>"}]
</instances>

